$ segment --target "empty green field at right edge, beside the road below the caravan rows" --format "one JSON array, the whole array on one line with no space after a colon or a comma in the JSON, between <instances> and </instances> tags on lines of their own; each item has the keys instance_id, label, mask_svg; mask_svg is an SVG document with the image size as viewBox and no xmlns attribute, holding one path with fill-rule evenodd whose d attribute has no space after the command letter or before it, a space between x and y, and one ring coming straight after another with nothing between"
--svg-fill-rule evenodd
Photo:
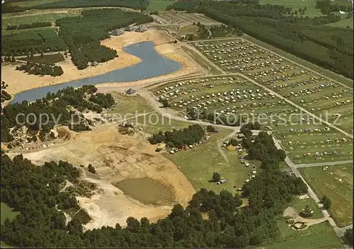
<instances>
[{"instance_id":1,"label":"empty green field at right edge, beside the road below the caravan rows","mask_svg":"<svg viewBox=\"0 0 354 249\"><path fill-rule=\"evenodd\" d=\"M329 210L339 227L353 222L353 164L323 167L300 168L302 176L316 195L326 195L332 201ZM332 173L332 174L331 174ZM342 179L339 182L339 179Z\"/></svg>"}]
</instances>

